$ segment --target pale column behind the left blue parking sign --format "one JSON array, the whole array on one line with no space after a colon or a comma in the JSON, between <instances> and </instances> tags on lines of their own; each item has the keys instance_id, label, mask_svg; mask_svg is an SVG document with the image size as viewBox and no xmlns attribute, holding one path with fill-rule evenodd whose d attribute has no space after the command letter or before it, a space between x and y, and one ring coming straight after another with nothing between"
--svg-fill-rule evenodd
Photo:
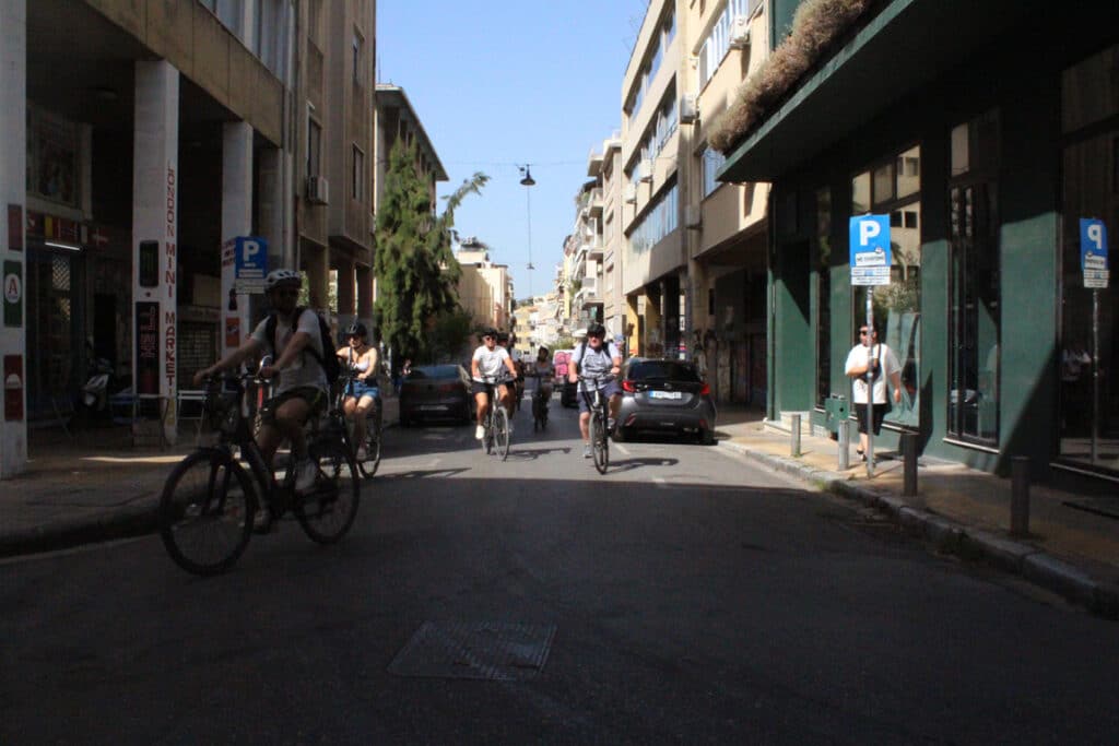
<instances>
[{"instance_id":1,"label":"pale column behind the left blue parking sign","mask_svg":"<svg viewBox=\"0 0 1119 746\"><path fill-rule=\"evenodd\" d=\"M222 357L241 347L252 332L248 293L235 289L238 236L253 230L253 128L247 122L222 125Z\"/></svg>"}]
</instances>

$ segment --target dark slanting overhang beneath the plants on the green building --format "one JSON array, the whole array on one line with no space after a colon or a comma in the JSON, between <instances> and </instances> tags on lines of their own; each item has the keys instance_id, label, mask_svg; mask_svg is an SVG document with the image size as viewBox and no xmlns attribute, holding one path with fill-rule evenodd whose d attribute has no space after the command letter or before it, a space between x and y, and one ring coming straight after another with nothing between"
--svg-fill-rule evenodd
<instances>
[{"instance_id":1,"label":"dark slanting overhang beneath the plants on the green building","mask_svg":"<svg viewBox=\"0 0 1119 746\"><path fill-rule=\"evenodd\" d=\"M894 0L749 135L720 181L773 181L982 51L1041 0Z\"/></svg>"}]
</instances>

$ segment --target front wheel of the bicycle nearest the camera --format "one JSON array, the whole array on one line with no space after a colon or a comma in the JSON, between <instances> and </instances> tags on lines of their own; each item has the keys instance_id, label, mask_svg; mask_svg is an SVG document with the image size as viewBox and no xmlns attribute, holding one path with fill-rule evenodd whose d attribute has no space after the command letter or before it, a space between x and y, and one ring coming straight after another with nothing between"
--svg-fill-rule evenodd
<instances>
[{"instance_id":1,"label":"front wheel of the bicycle nearest the camera","mask_svg":"<svg viewBox=\"0 0 1119 746\"><path fill-rule=\"evenodd\" d=\"M195 451L171 470L159 499L159 536L188 573L229 569L253 535L256 491L234 457L217 448Z\"/></svg>"}]
</instances>

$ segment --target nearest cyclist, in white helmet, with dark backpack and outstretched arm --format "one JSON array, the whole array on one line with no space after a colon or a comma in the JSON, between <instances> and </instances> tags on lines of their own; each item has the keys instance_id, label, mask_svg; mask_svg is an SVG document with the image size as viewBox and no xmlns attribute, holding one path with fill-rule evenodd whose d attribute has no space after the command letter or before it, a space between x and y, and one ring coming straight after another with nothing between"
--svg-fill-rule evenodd
<instances>
[{"instance_id":1,"label":"nearest cyclist, in white helmet, with dark backpack and outstretched arm","mask_svg":"<svg viewBox=\"0 0 1119 746\"><path fill-rule=\"evenodd\" d=\"M261 431L256 442L271 469L280 443L285 437L291 441L292 454L297 459L297 492L307 492L314 485L318 469L308 454L303 425L327 402L327 374L320 362L326 350L319 333L319 317L314 311L304 309L298 319L294 318L302 284L299 273L292 270L270 272L264 278L264 294L276 317L275 339L267 338L269 318L265 318L244 344L195 374L195 386L199 386L203 378L236 368L250 357L272 355L272 361L261 368L260 375L262 378L279 376L280 383L275 396L261 408ZM266 514L258 517L260 520L266 521Z\"/></svg>"}]
</instances>

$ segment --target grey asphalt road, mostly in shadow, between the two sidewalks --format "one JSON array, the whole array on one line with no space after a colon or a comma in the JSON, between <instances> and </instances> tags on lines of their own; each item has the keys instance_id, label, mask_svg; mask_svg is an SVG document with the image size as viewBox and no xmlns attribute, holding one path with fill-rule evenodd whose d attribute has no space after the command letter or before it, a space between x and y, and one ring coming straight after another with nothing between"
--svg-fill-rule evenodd
<instances>
[{"instance_id":1,"label":"grey asphalt road, mostly in shadow, between the two sidewalks","mask_svg":"<svg viewBox=\"0 0 1119 746\"><path fill-rule=\"evenodd\" d=\"M0 744L1119 740L1115 623L728 448L600 476L573 412L516 423L504 463L389 431L340 545L219 578L150 537L0 563Z\"/></svg>"}]
</instances>

